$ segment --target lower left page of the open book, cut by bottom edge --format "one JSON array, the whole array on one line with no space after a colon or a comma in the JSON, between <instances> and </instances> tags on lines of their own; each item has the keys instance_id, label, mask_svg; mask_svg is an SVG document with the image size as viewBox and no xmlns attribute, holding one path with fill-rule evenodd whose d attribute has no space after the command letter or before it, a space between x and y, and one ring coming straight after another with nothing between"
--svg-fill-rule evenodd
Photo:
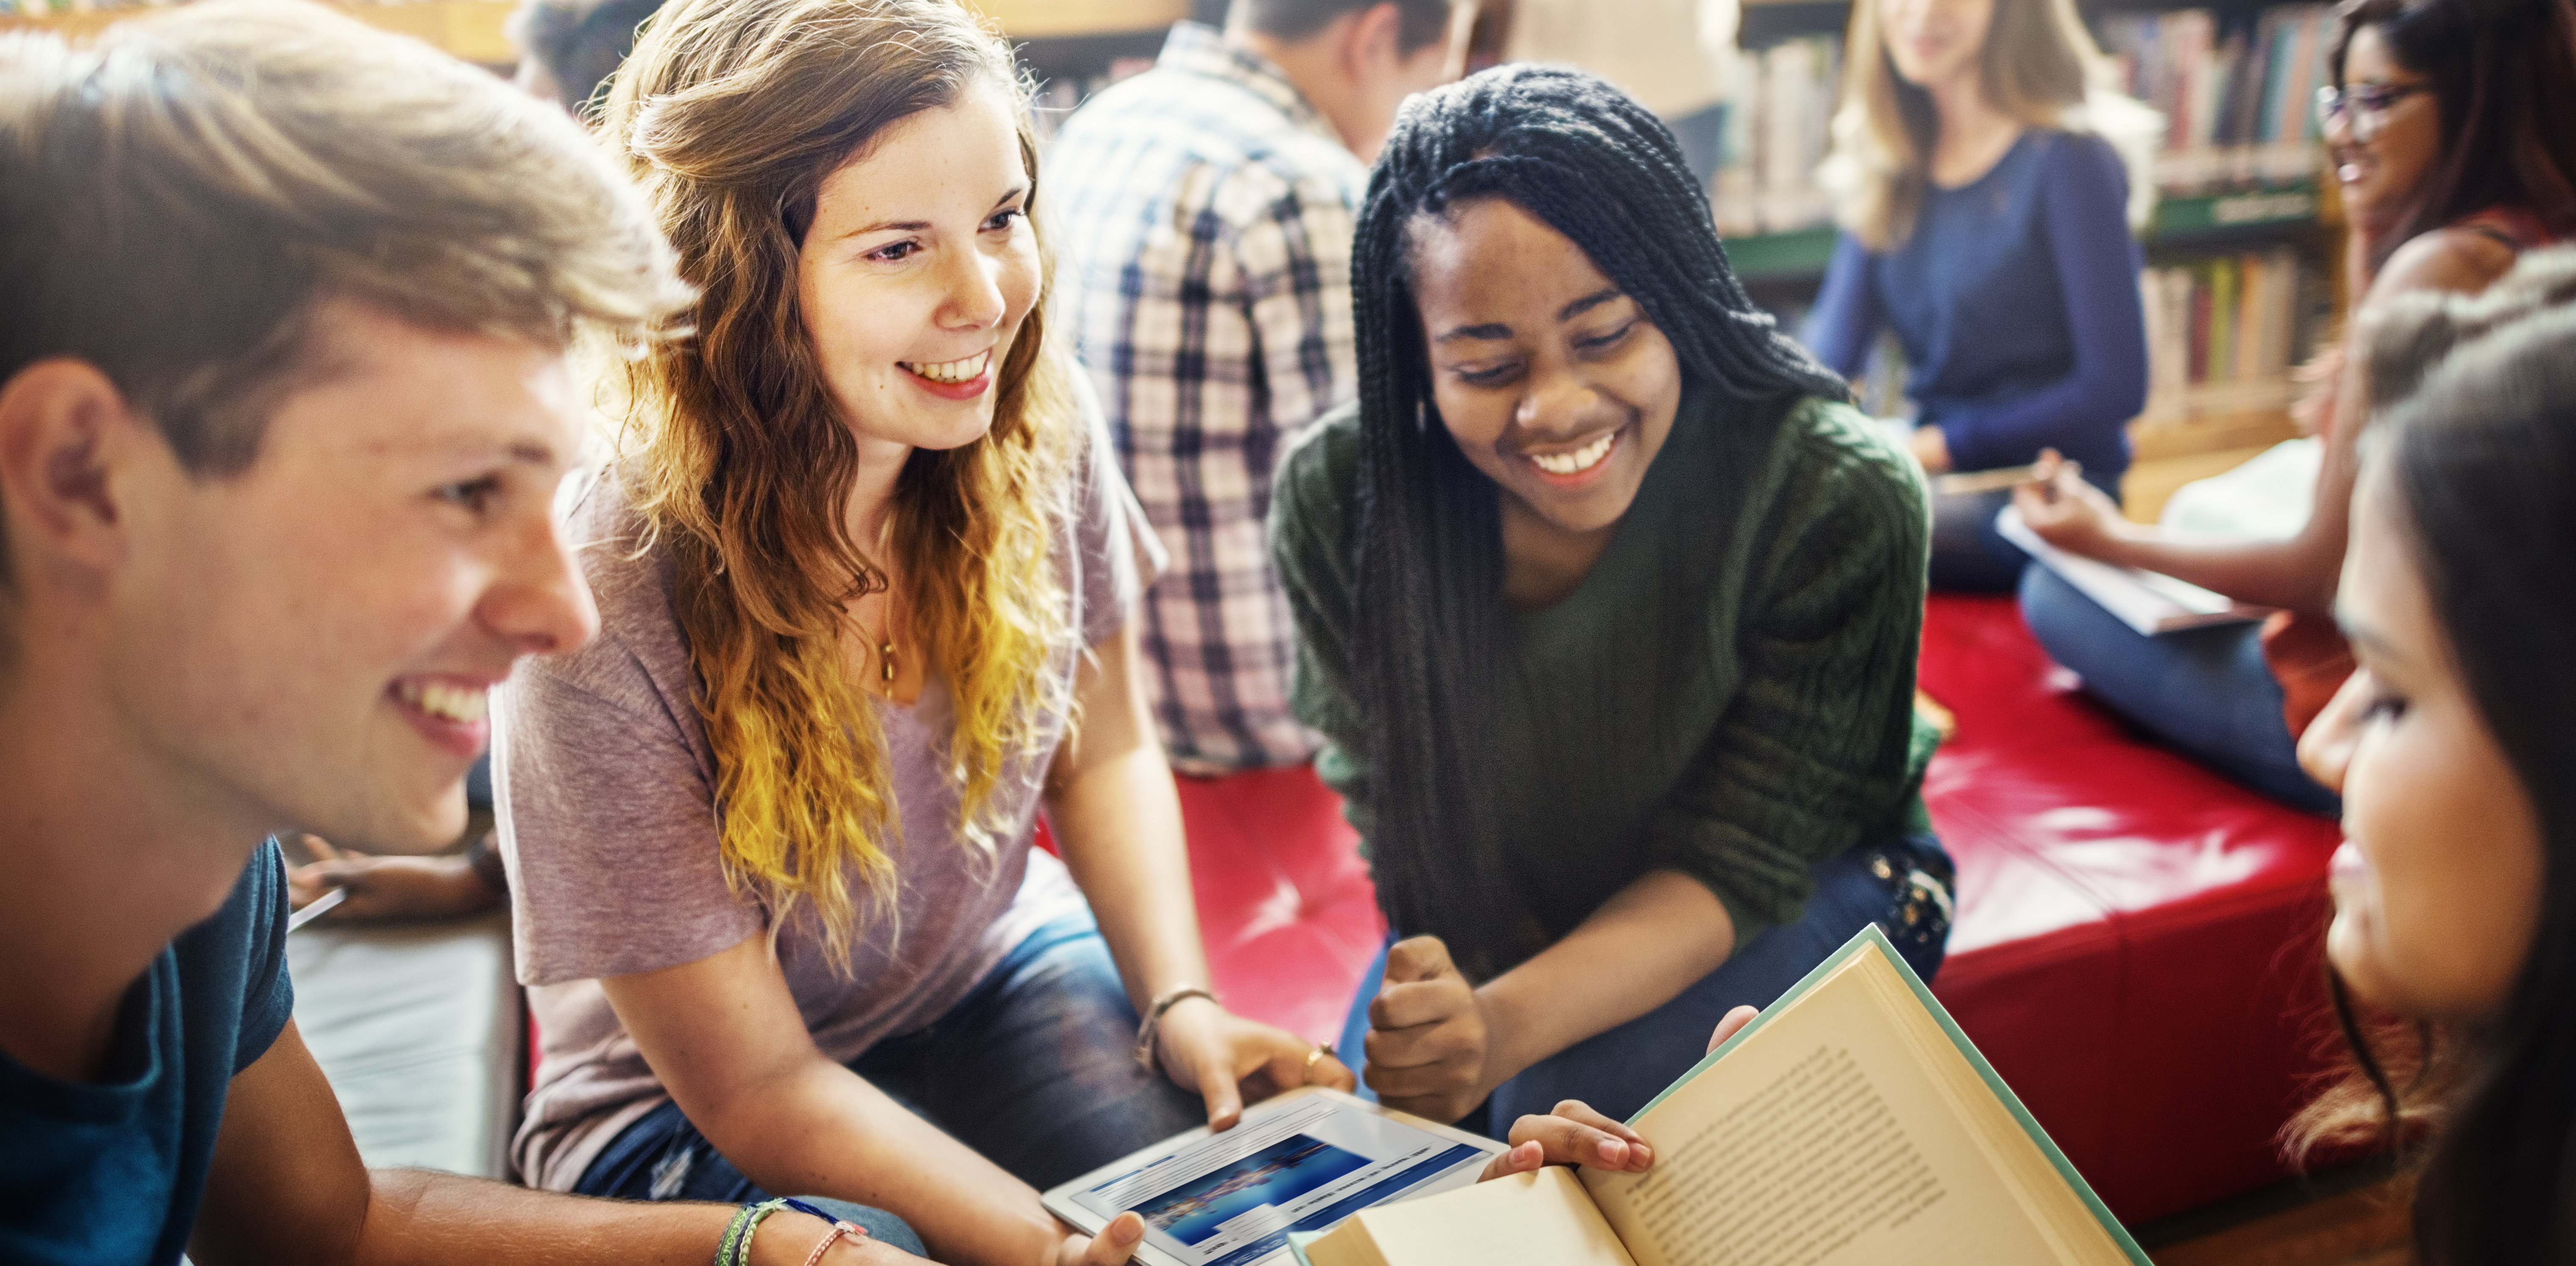
<instances>
[{"instance_id":1,"label":"lower left page of the open book, cut by bottom edge","mask_svg":"<svg viewBox=\"0 0 2576 1266\"><path fill-rule=\"evenodd\" d=\"M1548 1166L1381 1204L1306 1245L1314 1266L1636 1266L1574 1171Z\"/></svg>"}]
</instances>

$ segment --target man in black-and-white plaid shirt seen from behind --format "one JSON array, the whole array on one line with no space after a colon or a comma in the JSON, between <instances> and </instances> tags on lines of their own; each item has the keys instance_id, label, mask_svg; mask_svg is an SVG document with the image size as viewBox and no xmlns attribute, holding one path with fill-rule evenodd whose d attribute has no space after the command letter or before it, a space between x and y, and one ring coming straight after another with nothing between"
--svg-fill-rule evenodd
<instances>
[{"instance_id":1,"label":"man in black-and-white plaid shirt seen from behind","mask_svg":"<svg viewBox=\"0 0 2576 1266\"><path fill-rule=\"evenodd\" d=\"M1396 106L1450 75L1448 0L1236 0L1046 157L1066 311L1172 571L1144 605L1172 764L1298 764L1273 461L1358 386L1350 234Z\"/></svg>"}]
</instances>

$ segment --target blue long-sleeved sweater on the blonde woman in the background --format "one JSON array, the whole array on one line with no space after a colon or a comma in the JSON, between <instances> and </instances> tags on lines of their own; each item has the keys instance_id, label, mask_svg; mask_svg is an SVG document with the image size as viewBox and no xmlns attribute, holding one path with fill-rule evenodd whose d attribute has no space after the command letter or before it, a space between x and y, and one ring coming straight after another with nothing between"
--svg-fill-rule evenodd
<instances>
[{"instance_id":1,"label":"blue long-sleeved sweater on the blonde woman in the background","mask_svg":"<svg viewBox=\"0 0 2576 1266\"><path fill-rule=\"evenodd\" d=\"M1929 188L1914 234L1834 244L1806 345L1844 378L1896 329L1922 422L1950 466L1991 471L2056 448L2115 484L2120 430L2146 407L2146 314L2128 172L2099 136L2025 131L1981 178Z\"/></svg>"}]
</instances>

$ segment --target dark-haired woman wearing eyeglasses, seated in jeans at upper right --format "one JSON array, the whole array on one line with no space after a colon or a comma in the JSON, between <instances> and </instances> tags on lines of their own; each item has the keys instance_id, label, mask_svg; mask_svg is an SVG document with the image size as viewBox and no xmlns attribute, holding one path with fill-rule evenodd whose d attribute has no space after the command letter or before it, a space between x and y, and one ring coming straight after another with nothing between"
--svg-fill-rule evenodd
<instances>
[{"instance_id":1,"label":"dark-haired woman wearing eyeglasses, seated in jeans at upper right","mask_svg":"<svg viewBox=\"0 0 2576 1266\"><path fill-rule=\"evenodd\" d=\"M2476 293L2514 257L2576 237L2576 10L2568 0L2347 0L2331 85L2318 93L2349 219L2347 268L2367 314L2398 293ZM2177 540L2133 525L2079 479L2040 461L2014 489L2053 546L2164 571L2269 623L2138 636L2048 569L2022 576L2022 615L2084 687L2184 754L2275 800L2334 813L2298 767L2298 733L2352 674L2334 630L2352 515L2354 440L2367 412L2321 358L2303 412L2324 437L2316 509L2287 540Z\"/></svg>"}]
</instances>

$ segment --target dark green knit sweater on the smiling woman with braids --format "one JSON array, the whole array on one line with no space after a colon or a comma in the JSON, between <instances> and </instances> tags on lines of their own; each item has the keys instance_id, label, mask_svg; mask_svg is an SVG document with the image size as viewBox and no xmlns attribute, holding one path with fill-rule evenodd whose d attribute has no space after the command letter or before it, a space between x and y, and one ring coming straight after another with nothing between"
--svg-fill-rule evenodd
<instances>
[{"instance_id":1,"label":"dark green knit sweater on the smiling woman with braids","mask_svg":"<svg viewBox=\"0 0 2576 1266\"><path fill-rule=\"evenodd\" d=\"M1378 787L1347 659L1358 468L1345 407L1283 458L1270 548L1298 628L1291 700L1324 733L1316 767L1365 841ZM1857 409L1806 399L1765 427L1685 396L1582 584L1504 610L1486 785L1551 944L1649 870L1705 883L1741 944L1798 919L1814 862L1929 831L1937 736L1914 715L1927 540L1922 479ZM1703 582L1672 592L1677 571ZM1641 654L1656 615L1705 620L1705 651Z\"/></svg>"}]
</instances>

